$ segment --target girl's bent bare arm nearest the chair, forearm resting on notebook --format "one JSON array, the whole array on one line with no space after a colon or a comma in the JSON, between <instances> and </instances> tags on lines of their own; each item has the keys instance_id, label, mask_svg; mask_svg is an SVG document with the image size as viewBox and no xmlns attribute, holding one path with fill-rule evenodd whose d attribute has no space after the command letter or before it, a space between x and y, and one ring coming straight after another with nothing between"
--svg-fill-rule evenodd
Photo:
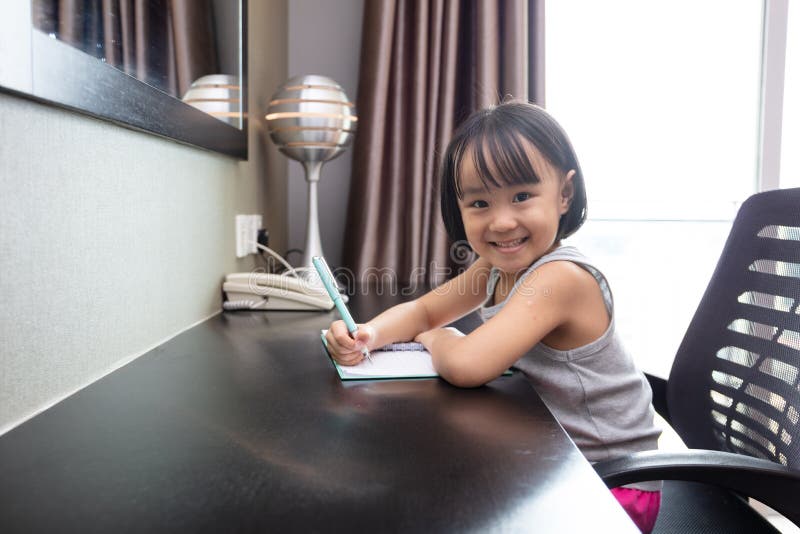
<instances>
[{"instance_id":1,"label":"girl's bent bare arm nearest the chair, forearm resting on notebook","mask_svg":"<svg viewBox=\"0 0 800 534\"><path fill-rule=\"evenodd\" d=\"M475 387L500 376L531 347L553 334L556 348L575 348L608 327L594 277L570 262L547 263L531 273L492 319L467 336L436 329L417 336L448 382Z\"/></svg>"}]
</instances>

